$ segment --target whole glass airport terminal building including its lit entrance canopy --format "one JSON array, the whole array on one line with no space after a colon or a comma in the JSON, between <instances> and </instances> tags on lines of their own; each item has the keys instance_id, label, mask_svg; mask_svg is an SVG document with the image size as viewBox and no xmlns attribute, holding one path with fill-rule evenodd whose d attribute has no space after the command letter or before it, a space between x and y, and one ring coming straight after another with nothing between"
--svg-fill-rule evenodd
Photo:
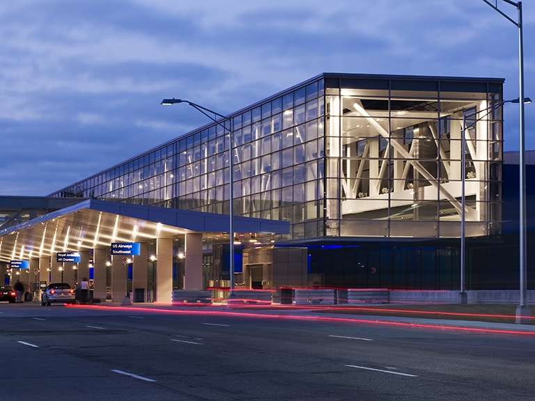
<instances>
[{"instance_id":1,"label":"whole glass airport terminal building including its lit entrance canopy","mask_svg":"<svg viewBox=\"0 0 535 401\"><path fill-rule=\"evenodd\" d=\"M239 288L455 290L464 184L468 286L514 288L483 260L508 246L503 82L320 74L3 214L0 259L54 281L78 252L101 298L224 288L232 184Z\"/></svg>"}]
</instances>

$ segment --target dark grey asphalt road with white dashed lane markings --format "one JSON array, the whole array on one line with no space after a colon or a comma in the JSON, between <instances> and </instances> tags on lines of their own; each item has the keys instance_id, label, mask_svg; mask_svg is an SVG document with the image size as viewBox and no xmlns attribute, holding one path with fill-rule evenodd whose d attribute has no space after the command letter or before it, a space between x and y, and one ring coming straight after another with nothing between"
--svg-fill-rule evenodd
<instances>
[{"instance_id":1,"label":"dark grey asphalt road with white dashed lane markings","mask_svg":"<svg viewBox=\"0 0 535 401\"><path fill-rule=\"evenodd\" d=\"M534 400L535 336L0 304L0 400Z\"/></svg>"}]
</instances>

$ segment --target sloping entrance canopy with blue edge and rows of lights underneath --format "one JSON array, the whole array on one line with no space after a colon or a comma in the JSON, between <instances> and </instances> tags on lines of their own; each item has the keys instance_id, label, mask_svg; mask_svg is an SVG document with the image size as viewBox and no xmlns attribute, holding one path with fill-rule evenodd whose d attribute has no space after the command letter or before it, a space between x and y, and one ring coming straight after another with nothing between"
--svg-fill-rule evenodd
<instances>
[{"instance_id":1,"label":"sloping entrance canopy with blue edge and rows of lights underneath","mask_svg":"<svg viewBox=\"0 0 535 401\"><path fill-rule=\"evenodd\" d=\"M286 234L290 224L235 216L234 230ZM27 260L185 233L228 233L228 216L88 199L0 230L0 260Z\"/></svg>"}]
</instances>

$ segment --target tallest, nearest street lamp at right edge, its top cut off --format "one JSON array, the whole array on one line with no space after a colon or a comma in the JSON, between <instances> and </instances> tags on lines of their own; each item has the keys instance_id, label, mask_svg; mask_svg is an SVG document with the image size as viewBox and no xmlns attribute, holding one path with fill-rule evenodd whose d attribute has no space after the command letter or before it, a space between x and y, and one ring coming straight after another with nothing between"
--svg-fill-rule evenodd
<instances>
[{"instance_id":1,"label":"tallest, nearest street lamp at right edge, its top cut off","mask_svg":"<svg viewBox=\"0 0 535 401\"><path fill-rule=\"evenodd\" d=\"M492 7L497 13L505 17L509 22L512 22L518 28L518 99L524 99L524 34L523 34L523 22L522 22L522 1L502 0L504 3L509 4L516 8L518 15L517 20L506 15L502 10L498 8L498 0L495 3L490 3L488 0L483 0L488 6ZM531 102L531 100L530 100ZM517 323L527 323L522 319L522 316L530 316L531 312L527 306L527 242L526 242L526 162L525 162L525 126L524 126L524 102L520 102L519 113L519 161L520 168L520 238L519 238L519 250L520 250L520 302L516 308ZM527 319L529 320L529 319Z\"/></svg>"}]
</instances>

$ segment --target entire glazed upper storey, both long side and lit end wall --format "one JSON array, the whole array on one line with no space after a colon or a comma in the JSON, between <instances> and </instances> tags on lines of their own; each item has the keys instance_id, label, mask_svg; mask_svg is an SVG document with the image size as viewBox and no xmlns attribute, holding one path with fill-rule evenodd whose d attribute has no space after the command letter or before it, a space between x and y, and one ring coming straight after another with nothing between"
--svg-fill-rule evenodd
<instances>
[{"instance_id":1,"label":"entire glazed upper storey, both long side and lit end wall","mask_svg":"<svg viewBox=\"0 0 535 401\"><path fill-rule=\"evenodd\" d=\"M228 214L232 154L234 213L283 239L458 237L464 121L467 235L488 235L501 100L498 79L322 74L52 196Z\"/></svg>"}]
</instances>

